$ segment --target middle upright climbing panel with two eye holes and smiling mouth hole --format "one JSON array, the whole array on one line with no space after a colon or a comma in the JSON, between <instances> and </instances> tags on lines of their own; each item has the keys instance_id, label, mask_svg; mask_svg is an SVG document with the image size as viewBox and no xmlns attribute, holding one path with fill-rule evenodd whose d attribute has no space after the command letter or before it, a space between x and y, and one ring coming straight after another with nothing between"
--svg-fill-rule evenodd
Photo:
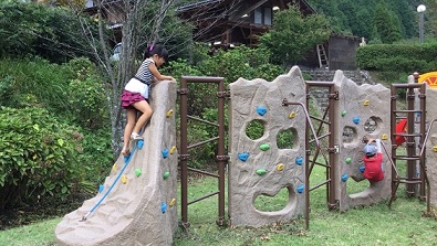
<instances>
[{"instance_id":1,"label":"middle upright climbing panel with two eye holes and smiling mouth hole","mask_svg":"<svg viewBox=\"0 0 437 246\"><path fill-rule=\"evenodd\" d=\"M240 78L229 87L231 225L262 226L303 214L305 114L300 106L282 106L284 98L305 103L305 83L299 67L273 82ZM253 121L263 128L258 139L248 136ZM278 147L281 132L291 132L289 148ZM284 207L269 212L256 208L258 196L274 196L282 189L289 194Z\"/></svg>"}]
</instances>

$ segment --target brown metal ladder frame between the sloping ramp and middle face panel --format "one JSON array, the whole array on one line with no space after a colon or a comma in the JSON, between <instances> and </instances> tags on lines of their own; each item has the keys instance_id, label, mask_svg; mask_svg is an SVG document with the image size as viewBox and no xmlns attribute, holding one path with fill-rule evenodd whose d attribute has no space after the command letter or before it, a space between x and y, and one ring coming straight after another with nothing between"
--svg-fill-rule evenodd
<instances>
[{"instance_id":1,"label":"brown metal ladder frame between the sloping ramp and middle face panel","mask_svg":"<svg viewBox=\"0 0 437 246\"><path fill-rule=\"evenodd\" d=\"M218 124L209 122L188 115L188 83L214 83L217 84L217 97L218 97ZM225 92L225 78L222 77L199 77L199 76L181 76L180 78L180 148L179 148L179 168L180 168L180 206L181 206L181 223L185 228L189 227L188 222L188 205L199 202L201 200L218 195L218 218L217 224L222 226L226 225L225 220L225 171L226 164L229 157L225 149L225 99L228 94ZM218 137L194 143L188 146L188 132L187 125L188 119L205 122L218 128ZM218 141L216 162L218 163L218 174L209 173L202 170L188 168L189 153L188 150L198 146L208 143L210 141ZM198 197L194 201L188 202L188 171L201 173L205 175L214 177L218 179L218 191L210 194Z\"/></svg>"}]
</instances>

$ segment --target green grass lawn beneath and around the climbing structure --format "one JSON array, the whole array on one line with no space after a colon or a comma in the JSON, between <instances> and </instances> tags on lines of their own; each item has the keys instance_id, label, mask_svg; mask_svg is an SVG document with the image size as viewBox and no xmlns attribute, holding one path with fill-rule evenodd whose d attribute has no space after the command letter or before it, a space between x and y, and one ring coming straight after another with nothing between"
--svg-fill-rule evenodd
<instances>
[{"instance_id":1,"label":"green grass lawn beneath and around the climbing structure","mask_svg":"<svg viewBox=\"0 0 437 246\"><path fill-rule=\"evenodd\" d=\"M320 179L323 175L314 177ZM351 184L355 190L364 189L364 182ZM193 179L189 200L216 190L215 179ZM277 210L285 204L285 196L287 193L281 191L274 197L257 199L256 205L264 206L264 211ZM387 202L382 202L345 213L327 211L325 189L318 189L311 192L309 231L304 229L303 218L262 228L219 227L216 225L217 207L217 196L191 204L188 207L190 227L177 232L174 245L437 245L437 221L423 216L426 203L416 197L407 199L405 185L400 185L392 210L388 210ZM61 220L2 231L0 246L55 245L54 228Z\"/></svg>"}]
</instances>

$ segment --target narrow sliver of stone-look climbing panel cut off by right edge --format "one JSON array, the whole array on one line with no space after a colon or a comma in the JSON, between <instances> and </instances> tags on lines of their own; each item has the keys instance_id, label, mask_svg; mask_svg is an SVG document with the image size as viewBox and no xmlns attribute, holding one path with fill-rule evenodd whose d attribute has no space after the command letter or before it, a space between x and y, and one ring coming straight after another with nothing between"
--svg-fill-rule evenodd
<instances>
[{"instance_id":1,"label":"narrow sliver of stone-look climbing panel cut off by right edge","mask_svg":"<svg viewBox=\"0 0 437 246\"><path fill-rule=\"evenodd\" d=\"M433 105L437 101L437 89L426 88L426 100L429 101L426 107L426 119L428 121L427 129L430 122L437 119L437 108ZM431 103L433 101L433 103ZM435 211L437 211L437 121L433 124L429 132L428 141L426 142L426 168L430 184L429 202Z\"/></svg>"}]
</instances>

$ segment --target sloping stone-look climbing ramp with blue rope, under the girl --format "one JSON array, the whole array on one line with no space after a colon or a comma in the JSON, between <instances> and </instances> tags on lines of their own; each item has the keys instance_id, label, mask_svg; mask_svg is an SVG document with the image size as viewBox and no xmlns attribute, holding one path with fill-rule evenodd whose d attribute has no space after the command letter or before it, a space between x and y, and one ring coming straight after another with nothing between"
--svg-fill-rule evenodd
<instances>
[{"instance_id":1,"label":"sloping stone-look climbing ramp with blue rope, under the girl","mask_svg":"<svg viewBox=\"0 0 437 246\"><path fill-rule=\"evenodd\" d=\"M95 197L64 216L55 229L59 245L171 245L178 222L175 101L176 82L157 83L144 141L110 168Z\"/></svg>"}]
</instances>

